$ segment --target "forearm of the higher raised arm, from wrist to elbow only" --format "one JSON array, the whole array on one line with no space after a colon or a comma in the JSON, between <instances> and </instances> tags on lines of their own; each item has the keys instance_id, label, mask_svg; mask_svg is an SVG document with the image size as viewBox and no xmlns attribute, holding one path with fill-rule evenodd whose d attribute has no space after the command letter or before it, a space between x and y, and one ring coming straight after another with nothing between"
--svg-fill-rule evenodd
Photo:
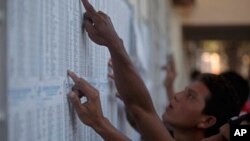
<instances>
[{"instance_id":1,"label":"forearm of the higher raised arm, from wrist to elbow only","mask_svg":"<svg viewBox=\"0 0 250 141\"><path fill-rule=\"evenodd\" d=\"M108 47L113 64L115 83L124 103L137 105L147 112L155 112L149 92L125 51L122 40L116 40Z\"/></svg>"}]
</instances>

